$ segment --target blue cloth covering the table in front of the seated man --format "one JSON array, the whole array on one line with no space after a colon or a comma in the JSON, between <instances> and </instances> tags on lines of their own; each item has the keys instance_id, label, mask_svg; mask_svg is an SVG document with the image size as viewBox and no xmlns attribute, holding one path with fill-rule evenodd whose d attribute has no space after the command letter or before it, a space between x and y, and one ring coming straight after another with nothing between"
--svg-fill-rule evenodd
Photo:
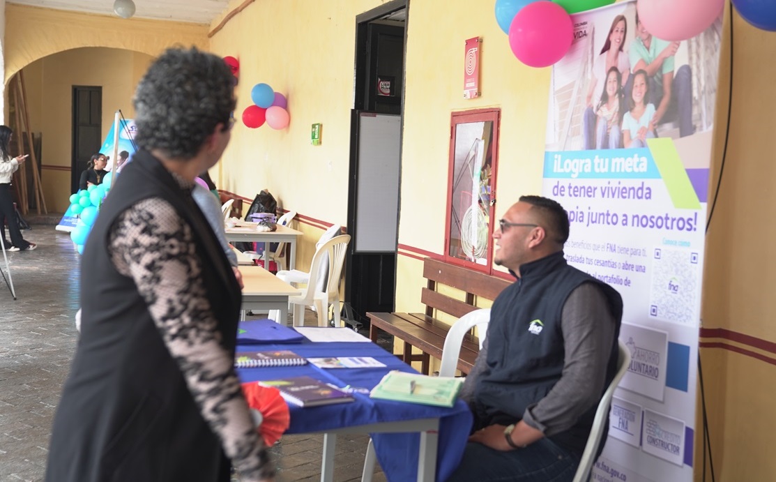
<instances>
[{"instance_id":1,"label":"blue cloth covering the table in front of the seated man","mask_svg":"<svg viewBox=\"0 0 776 482\"><path fill-rule=\"evenodd\" d=\"M371 342L304 342L297 345L238 346L237 351L290 349L305 358L328 356L371 356L386 364L369 369L320 369L310 363L303 366L239 369L243 382L275 380L309 375L337 387L372 389L390 370L417 373L396 356ZM354 403L302 408L289 405L291 426L287 433L321 432L327 429L365 425L381 421L439 418L437 480L445 480L458 466L472 425L472 414L458 401L452 408L373 400L368 394L355 394ZM377 459L388 480L416 480L420 434L373 434Z\"/></svg>"}]
</instances>

